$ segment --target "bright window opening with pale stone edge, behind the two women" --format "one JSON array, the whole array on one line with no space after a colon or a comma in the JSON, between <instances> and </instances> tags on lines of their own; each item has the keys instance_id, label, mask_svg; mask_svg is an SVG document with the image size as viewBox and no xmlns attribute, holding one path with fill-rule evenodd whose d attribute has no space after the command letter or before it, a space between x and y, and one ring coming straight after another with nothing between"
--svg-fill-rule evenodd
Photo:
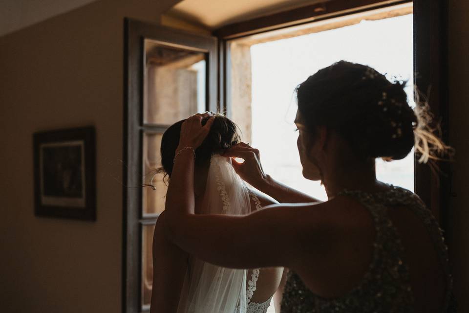
<instances>
[{"instance_id":1,"label":"bright window opening with pale stone edge, behind the two women","mask_svg":"<svg viewBox=\"0 0 469 313\"><path fill-rule=\"evenodd\" d=\"M389 78L400 74L413 82L412 18L412 3L406 3L228 41L232 62L227 105L243 139L259 149L267 173L327 200L320 182L301 174L298 134L293 132L294 90L338 60L368 64ZM406 91L412 103L412 83ZM412 191L413 171L412 154L399 161L377 160L379 179Z\"/></svg>"}]
</instances>

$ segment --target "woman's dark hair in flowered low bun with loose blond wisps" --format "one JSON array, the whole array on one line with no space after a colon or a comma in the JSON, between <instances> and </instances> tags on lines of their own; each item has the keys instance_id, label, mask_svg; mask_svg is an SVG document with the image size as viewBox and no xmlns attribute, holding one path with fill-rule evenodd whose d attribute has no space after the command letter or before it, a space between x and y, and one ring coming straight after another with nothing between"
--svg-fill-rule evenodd
<instances>
[{"instance_id":1,"label":"woman's dark hair in flowered low bun with loose blond wisps","mask_svg":"<svg viewBox=\"0 0 469 313\"><path fill-rule=\"evenodd\" d=\"M406 82L390 82L375 69L346 61L320 69L296 91L301 122L337 131L362 159L398 160L416 147L421 162L438 159L446 146L431 128L426 103L407 103Z\"/></svg>"}]
</instances>

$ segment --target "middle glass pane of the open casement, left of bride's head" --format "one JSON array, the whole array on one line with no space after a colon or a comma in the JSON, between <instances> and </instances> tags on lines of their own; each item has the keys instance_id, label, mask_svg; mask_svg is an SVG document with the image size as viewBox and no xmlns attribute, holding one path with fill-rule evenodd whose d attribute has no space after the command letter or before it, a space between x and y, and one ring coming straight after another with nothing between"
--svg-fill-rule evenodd
<instances>
[{"instance_id":1,"label":"middle glass pane of the open casement, left of bride's head","mask_svg":"<svg viewBox=\"0 0 469 313\"><path fill-rule=\"evenodd\" d=\"M143 215L159 214L165 209L167 187L163 181L163 174L155 174L161 167L160 146L163 134L145 133L143 135L143 184L155 187L144 187L142 191Z\"/></svg>"}]
</instances>

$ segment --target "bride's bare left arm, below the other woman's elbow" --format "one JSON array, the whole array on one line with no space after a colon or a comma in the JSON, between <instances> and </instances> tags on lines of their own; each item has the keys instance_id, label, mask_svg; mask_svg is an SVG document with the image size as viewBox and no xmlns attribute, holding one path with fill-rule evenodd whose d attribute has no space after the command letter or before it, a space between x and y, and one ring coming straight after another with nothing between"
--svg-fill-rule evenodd
<instances>
[{"instance_id":1,"label":"bride's bare left arm, below the other woman's elbow","mask_svg":"<svg viewBox=\"0 0 469 313\"><path fill-rule=\"evenodd\" d=\"M158 219L153 235L153 288L150 313L176 313L189 255L168 240Z\"/></svg>"}]
</instances>

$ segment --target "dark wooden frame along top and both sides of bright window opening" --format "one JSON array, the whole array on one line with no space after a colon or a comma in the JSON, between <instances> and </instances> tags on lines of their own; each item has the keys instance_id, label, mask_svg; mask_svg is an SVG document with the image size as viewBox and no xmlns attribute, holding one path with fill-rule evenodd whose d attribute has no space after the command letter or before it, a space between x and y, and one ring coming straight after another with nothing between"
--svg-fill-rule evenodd
<instances>
[{"instance_id":1,"label":"dark wooden frame along top and both sides of bright window opening","mask_svg":"<svg viewBox=\"0 0 469 313\"><path fill-rule=\"evenodd\" d=\"M448 142L448 4L439 0L331 0L303 6L245 22L223 26L214 31L222 47L220 70L223 77L220 104L230 112L227 86L230 85L230 51L227 42L267 31L319 22L354 13L376 10L399 4L413 4L414 18L414 84L429 92L429 106L441 119L442 138ZM428 31L430 30L430 31ZM432 86L429 89L429 86ZM414 157L414 190L426 203L436 219L446 228L447 205L451 195L451 173L448 162L438 162L441 172L434 173L427 164L419 164ZM444 175L443 173L449 173Z\"/></svg>"}]
</instances>

